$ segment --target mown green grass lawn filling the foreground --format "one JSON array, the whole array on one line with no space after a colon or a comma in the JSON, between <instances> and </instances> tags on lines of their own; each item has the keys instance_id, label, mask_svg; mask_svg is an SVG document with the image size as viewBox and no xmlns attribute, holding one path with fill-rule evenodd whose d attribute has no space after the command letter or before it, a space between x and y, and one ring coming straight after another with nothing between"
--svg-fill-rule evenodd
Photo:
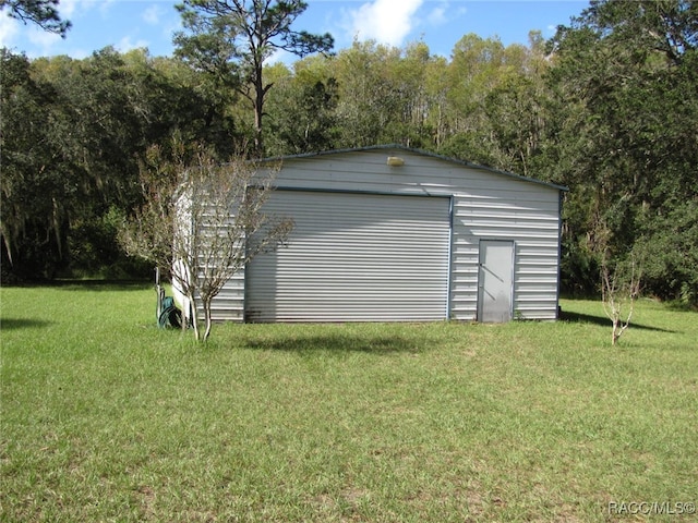
<instances>
[{"instance_id":1,"label":"mown green grass lawn filling the foreground","mask_svg":"<svg viewBox=\"0 0 698 523\"><path fill-rule=\"evenodd\" d=\"M2 521L698 520L696 313L197 345L146 285L0 293Z\"/></svg>"}]
</instances>

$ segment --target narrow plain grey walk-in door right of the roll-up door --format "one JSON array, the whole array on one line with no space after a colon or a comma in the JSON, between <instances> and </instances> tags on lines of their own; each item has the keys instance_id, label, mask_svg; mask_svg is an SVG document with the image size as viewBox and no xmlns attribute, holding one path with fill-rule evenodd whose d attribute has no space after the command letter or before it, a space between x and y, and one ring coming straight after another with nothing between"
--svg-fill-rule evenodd
<instances>
[{"instance_id":1,"label":"narrow plain grey walk-in door right of the roll-up door","mask_svg":"<svg viewBox=\"0 0 698 523\"><path fill-rule=\"evenodd\" d=\"M513 316L514 242L482 240L478 283L478 320L509 321Z\"/></svg>"}]
</instances>

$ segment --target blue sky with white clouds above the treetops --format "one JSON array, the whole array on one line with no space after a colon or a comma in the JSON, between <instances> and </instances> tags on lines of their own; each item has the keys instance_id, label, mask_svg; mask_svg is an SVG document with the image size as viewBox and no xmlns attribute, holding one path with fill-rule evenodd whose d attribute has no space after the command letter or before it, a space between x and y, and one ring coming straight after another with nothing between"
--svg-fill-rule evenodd
<instances>
[{"instance_id":1,"label":"blue sky with white clouds above the treetops","mask_svg":"<svg viewBox=\"0 0 698 523\"><path fill-rule=\"evenodd\" d=\"M0 47L29 58L68 54L85 58L113 46L121 52L148 48L153 56L172 53L172 33L180 28L173 0L60 0L60 12L73 24L64 39L23 25L0 12ZM497 36L504 45L527 44L528 33L545 38L568 24L588 1L578 0L309 0L298 29L332 33L335 50L375 39L402 47L423 40L433 54L449 57L466 34Z\"/></svg>"}]
</instances>

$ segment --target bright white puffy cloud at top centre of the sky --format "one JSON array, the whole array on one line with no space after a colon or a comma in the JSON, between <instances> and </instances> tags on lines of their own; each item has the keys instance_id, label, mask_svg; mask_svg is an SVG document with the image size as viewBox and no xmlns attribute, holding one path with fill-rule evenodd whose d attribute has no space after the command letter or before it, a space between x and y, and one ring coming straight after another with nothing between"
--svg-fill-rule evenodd
<instances>
[{"instance_id":1,"label":"bright white puffy cloud at top centre of the sky","mask_svg":"<svg viewBox=\"0 0 698 523\"><path fill-rule=\"evenodd\" d=\"M351 10L351 31L360 40L399 47L410 34L424 0L373 0Z\"/></svg>"}]
</instances>

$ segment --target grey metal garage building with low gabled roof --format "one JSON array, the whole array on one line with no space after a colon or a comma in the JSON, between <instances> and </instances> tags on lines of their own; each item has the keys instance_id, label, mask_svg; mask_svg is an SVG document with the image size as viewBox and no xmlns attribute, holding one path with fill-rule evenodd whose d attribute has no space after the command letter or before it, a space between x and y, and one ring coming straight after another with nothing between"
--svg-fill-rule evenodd
<instances>
[{"instance_id":1,"label":"grey metal garage building with low gabled roof","mask_svg":"<svg viewBox=\"0 0 698 523\"><path fill-rule=\"evenodd\" d=\"M293 218L289 245L226 284L214 319L557 317L565 187L395 145L280 160L266 211Z\"/></svg>"}]
</instances>

